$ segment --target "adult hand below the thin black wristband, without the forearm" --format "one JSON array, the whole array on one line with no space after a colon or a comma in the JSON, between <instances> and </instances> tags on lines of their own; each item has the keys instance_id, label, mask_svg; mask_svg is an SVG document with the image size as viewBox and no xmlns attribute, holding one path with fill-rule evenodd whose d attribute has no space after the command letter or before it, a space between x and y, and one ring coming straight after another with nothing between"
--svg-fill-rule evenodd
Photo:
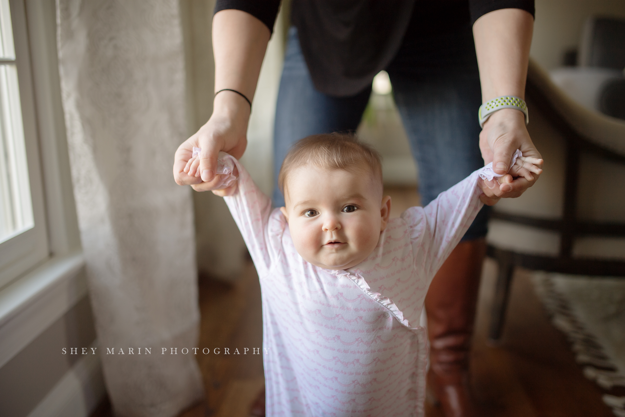
<instances>
[{"instance_id":1,"label":"adult hand below the thin black wristband, without the forearm","mask_svg":"<svg viewBox=\"0 0 625 417\"><path fill-rule=\"evenodd\" d=\"M215 96L211 118L196 134L184 141L174 155L174 179L196 191L219 185L217 155L224 151L241 158L247 146L249 104L235 93L224 91ZM191 159L193 148L201 148L199 158Z\"/></svg>"}]
</instances>

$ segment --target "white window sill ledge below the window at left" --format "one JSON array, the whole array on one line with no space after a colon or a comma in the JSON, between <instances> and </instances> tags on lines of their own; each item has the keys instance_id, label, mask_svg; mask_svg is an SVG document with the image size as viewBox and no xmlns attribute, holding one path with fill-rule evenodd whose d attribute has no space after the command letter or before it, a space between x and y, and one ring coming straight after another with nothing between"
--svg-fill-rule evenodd
<instances>
[{"instance_id":1,"label":"white window sill ledge below the window at left","mask_svg":"<svg viewBox=\"0 0 625 417\"><path fill-rule=\"evenodd\" d=\"M87 294L82 251L50 258L0 291L0 368Z\"/></svg>"}]
</instances>

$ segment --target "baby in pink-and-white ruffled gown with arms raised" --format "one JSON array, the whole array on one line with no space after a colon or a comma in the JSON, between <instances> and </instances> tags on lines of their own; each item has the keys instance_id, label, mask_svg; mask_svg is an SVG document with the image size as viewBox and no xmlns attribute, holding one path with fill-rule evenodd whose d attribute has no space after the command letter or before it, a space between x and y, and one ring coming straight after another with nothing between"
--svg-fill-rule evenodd
<instances>
[{"instance_id":1,"label":"baby in pink-and-white ruffled gown with arms raised","mask_svg":"<svg viewBox=\"0 0 625 417\"><path fill-rule=\"evenodd\" d=\"M515 161L512 175L541 172L540 159ZM267 415L422 416L424 298L482 207L478 179L492 169L395 219L379 155L352 136L296 143L279 174L279 209L232 156L219 155L219 171L216 194L261 283Z\"/></svg>"}]
</instances>

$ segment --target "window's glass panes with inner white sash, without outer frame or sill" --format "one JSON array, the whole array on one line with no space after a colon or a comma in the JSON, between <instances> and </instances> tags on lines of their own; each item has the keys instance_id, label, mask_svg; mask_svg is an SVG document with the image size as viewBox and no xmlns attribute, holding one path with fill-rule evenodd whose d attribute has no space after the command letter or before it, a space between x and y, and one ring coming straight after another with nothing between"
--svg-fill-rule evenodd
<instances>
[{"instance_id":1,"label":"window's glass panes with inner white sash, without outer frame or sill","mask_svg":"<svg viewBox=\"0 0 625 417\"><path fill-rule=\"evenodd\" d=\"M48 256L24 3L0 0L0 287Z\"/></svg>"}]
</instances>

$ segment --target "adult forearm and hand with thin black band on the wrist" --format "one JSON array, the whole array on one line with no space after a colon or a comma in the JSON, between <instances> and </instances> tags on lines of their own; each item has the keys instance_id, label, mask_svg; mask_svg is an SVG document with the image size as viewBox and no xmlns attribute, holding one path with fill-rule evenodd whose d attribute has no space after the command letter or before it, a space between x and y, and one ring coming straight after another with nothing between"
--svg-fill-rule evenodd
<instances>
[{"instance_id":1,"label":"adult forearm and hand with thin black band on the wrist","mask_svg":"<svg viewBox=\"0 0 625 417\"><path fill-rule=\"evenodd\" d=\"M212 18L212 52L215 58L215 90L212 116L196 134L183 142L174 156L174 179L196 191L215 189L217 155L224 151L241 158L247 146L249 103L234 89L254 99L271 32L259 19L236 9L215 13ZM199 158L189 162L193 147L202 148Z\"/></svg>"}]
</instances>

